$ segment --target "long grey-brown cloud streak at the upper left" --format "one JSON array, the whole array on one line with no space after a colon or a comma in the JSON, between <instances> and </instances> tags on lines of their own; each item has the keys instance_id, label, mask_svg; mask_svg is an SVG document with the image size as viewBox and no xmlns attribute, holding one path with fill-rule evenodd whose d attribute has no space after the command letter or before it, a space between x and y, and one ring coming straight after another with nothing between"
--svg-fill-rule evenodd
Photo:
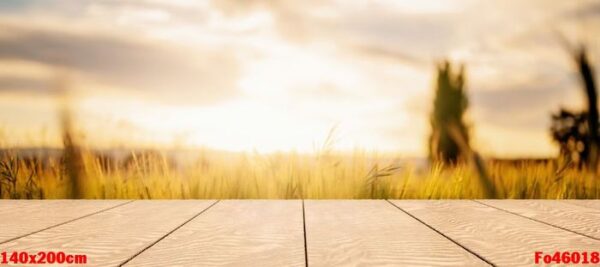
<instances>
[{"instance_id":1,"label":"long grey-brown cloud streak at the upper left","mask_svg":"<svg viewBox=\"0 0 600 267\"><path fill-rule=\"evenodd\" d=\"M71 69L101 83L211 103L236 94L239 66L227 48L0 25L0 59Z\"/></svg>"}]
</instances>

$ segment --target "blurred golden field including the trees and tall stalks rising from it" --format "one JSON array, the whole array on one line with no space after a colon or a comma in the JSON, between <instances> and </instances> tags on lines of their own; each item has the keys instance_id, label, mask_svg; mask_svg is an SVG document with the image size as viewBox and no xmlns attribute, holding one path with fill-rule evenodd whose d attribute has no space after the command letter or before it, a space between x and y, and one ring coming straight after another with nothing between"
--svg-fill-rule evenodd
<instances>
[{"instance_id":1,"label":"blurred golden field including the trees and tall stalks rising from it","mask_svg":"<svg viewBox=\"0 0 600 267\"><path fill-rule=\"evenodd\" d=\"M485 160L470 142L464 65L437 66L428 160L336 152L329 133L312 154L212 150L99 152L73 119L76 102L59 79L54 155L0 151L0 198L72 199L568 199L600 197L597 89L586 50L573 50L588 107L553 114L560 154L545 160ZM458 70L458 71L457 71ZM589 130L594 129L594 130ZM417 140L415 140L417 141ZM135 146L134 146L135 147ZM179 159L178 159L179 157ZM428 163L427 163L428 162Z\"/></svg>"}]
</instances>

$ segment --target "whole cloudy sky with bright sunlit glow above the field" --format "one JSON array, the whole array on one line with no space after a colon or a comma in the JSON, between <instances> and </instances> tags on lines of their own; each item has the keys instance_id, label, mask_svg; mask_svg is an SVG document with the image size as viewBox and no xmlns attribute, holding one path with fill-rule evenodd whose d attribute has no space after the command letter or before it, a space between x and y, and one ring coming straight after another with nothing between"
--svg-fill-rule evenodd
<instances>
[{"instance_id":1,"label":"whole cloudy sky with bright sunlit glow above the field","mask_svg":"<svg viewBox=\"0 0 600 267\"><path fill-rule=\"evenodd\" d=\"M64 87L92 146L424 156L450 59L477 150L553 156L583 103L559 36L600 65L599 26L597 0L3 0L0 144L60 145Z\"/></svg>"}]
</instances>

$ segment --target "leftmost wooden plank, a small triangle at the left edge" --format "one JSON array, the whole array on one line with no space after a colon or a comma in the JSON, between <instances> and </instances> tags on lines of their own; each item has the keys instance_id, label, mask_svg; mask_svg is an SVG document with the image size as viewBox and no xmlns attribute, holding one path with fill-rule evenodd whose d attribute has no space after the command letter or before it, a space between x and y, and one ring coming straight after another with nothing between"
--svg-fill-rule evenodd
<instances>
[{"instance_id":1,"label":"leftmost wooden plank, a small triangle at the left edge","mask_svg":"<svg viewBox=\"0 0 600 267\"><path fill-rule=\"evenodd\" d=\"M0 243L126 203L124 200L0 200Z\"/></svg>"}]
</instances>

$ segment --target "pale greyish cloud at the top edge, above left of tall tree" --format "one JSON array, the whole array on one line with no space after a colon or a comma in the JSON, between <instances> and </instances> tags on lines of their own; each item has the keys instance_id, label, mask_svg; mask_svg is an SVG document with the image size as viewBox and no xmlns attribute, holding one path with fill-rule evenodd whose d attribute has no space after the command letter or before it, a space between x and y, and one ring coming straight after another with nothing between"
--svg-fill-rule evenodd
<instances>
[{"instance_id":1,"label":"pale greyish cloud at the top edge, above left of tall tree","mask_svg":"<svg viewBox=\"0 0 600 267\"><path fill-rule=\"evenodd\" d=\"M388 55L413 61L441 57L455 44L459 25L452 14L424 16L391 3L340 4L336 1L213 1L224 14L239 17L268 10L279 34L293 42L332 42L351 51ZM409 56L407 51L410 51Z\"/></svg>"}]
</instances>

